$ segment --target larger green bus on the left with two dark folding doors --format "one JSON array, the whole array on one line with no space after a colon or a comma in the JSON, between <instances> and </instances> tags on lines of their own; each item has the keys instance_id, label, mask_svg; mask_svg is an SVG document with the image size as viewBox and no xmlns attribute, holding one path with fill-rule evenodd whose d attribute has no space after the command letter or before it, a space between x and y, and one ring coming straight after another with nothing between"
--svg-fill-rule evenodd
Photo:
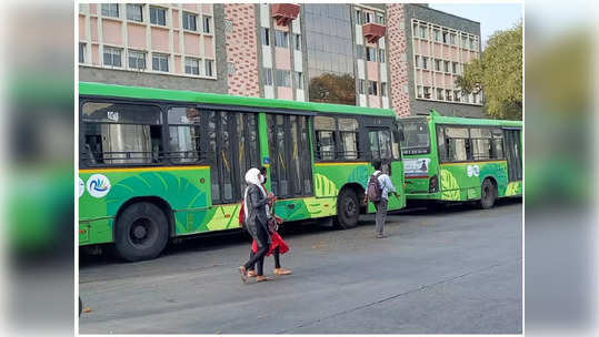
<instances>
[{"instance_id":1,"label":"larger green bus on the left with two dark folding doors","mask_svg":"<svg viewBox=\"0 0 599 337\"><path fill-rule=\"evenodd\" d=\"M284 221L357 225L380 159L403 185L392 110L79 83L79 244L153 258L170 238L239 228L250 167ZM389 210L405 207L392 197Z\"/></svg>"}]
</instances>

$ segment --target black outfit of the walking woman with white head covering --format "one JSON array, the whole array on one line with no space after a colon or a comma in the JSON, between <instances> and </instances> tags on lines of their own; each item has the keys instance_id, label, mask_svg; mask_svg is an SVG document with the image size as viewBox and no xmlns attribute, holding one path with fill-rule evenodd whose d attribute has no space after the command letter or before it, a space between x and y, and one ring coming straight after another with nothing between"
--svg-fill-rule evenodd
<instances>
[{"instance_id":1,"label":"black outfit of the walking woman with white head covering","mask_svg":"<svg viewBox=\"0 0 599 337\"><path fill-rule=\"evenodd\" d=\"M246 228L251 237L258 244L258 252L243 265L246 269L250 269L254 264L258 265L256 274L263 274L264 255L270 247L270 234L268 232L267 221L267 203L268 200L262 191L257 185L250 185L248 190L246 204L248 205L248 217L246 218Z\"/></svg>"}]
</instances>

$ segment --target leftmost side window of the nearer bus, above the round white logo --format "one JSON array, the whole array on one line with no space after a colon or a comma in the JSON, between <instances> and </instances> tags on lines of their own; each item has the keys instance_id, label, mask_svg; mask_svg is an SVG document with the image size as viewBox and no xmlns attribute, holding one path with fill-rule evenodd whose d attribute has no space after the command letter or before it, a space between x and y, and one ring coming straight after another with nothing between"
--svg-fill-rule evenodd
<instances>
[{"instance_id":1,"label":"leftmost side window of the nearer bus, above the round white logo","mask_svg":"<svg viewBox=\"0 0 599 337\"><path fill-rule=\"evenodd\" d=\"M81 110L88 163L152 164L162 161L162 115L154 105L84 103Z\"/></svg>"}]
</instances>

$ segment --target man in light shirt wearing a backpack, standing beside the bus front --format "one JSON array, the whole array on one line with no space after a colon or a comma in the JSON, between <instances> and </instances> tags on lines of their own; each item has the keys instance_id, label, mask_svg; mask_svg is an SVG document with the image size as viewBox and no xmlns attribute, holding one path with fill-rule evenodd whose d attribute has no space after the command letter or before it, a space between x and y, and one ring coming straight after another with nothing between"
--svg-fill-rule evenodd
<instances>
[{"instance_id":1,"label":"man in light shirt wearing a backpack, standing beside the bus front","mask_svg":"<svg viewBox=\"0 0 599 337\"><path fill-rule=\"evenodd\" d=\"M375 204L375 208L377 208L377 238L383 238L386 236L382 234L382 229L385 227L385 219L387 218L389 193L392 193L396 196L398 195L389 175L381 171L381 161L372 161L372 166L375 167L375 173L372 173L368 180L363 203L367 204L370 201Z\"/></svg>"}]
</instances>

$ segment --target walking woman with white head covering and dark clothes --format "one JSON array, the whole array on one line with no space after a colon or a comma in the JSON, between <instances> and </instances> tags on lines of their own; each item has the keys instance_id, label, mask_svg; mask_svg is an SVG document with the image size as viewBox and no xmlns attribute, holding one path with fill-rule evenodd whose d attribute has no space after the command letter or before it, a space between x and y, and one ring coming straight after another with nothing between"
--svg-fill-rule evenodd
<instances>
[{"instance_id":1,"label":"walking woman with white head covering and dark clothes","mask_svg":"<svg viewBox=\"0 0 599 337\"><path fill-rule=\"evenodd\" d=\"M251 237L258 244L258 251L256 254L246 262L244 265L239 267L239 273L241 274L241 279L243 282L248 280L248 269L257 264L256 270L256 280L262 282L268 280L263 276L263 262L264 256L267 255L271 238L268 231L268 217L267 217L267 205L272 205L277 200L272 194L267 195L266 190L262 187L262 180L260 170L250 168L246 173L246 193L243 196L243 212L244 212L244 222L246 228L250 233Z\"/></svg>"}]
</instances>

